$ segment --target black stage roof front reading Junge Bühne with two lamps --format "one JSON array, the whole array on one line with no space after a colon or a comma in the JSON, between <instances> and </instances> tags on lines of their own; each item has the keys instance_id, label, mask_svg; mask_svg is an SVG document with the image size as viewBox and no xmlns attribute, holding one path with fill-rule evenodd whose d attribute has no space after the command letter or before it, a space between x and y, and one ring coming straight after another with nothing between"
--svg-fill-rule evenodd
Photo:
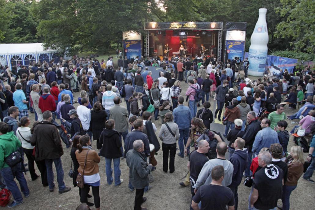
<instances>
[{"instance_id":1,"label":"black stage roof front reading Junge B\u00fchne with two lamps","mask_svg":"<svg viewBox=\"0 0 315 210\"><path fill-rule=\"evenodd\" d=\"M145 30L222 30L223 22L146 22Z\"/></svg>"}]
</instances>

